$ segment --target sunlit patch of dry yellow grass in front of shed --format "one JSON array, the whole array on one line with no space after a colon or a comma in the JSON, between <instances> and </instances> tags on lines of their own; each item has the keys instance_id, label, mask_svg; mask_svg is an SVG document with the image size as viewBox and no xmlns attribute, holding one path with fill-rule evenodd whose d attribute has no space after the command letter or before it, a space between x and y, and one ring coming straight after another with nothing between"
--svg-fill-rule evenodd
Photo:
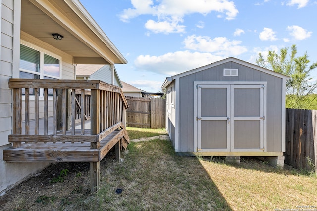
<instances>
[{"instance_id":1,"label":"sunlit patch of dry yellow grass in front of shed","mask_svg":"<svg viewBox=\"0 0 317 211\"><path fill-rule=\"evenodd\" d=\"M237 211L317 210L317 177L288 166L274 169L267 163L243 160L240 165L200 160L228 205ZM218 170L215 170L218 169Z\"/></svg>"}]
</instances>

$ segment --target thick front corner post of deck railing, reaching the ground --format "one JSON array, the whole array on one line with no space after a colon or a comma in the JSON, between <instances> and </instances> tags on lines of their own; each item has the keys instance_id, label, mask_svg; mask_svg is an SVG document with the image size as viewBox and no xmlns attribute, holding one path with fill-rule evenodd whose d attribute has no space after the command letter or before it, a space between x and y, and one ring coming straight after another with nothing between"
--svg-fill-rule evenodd
<instances>
[{"instance_id":1,"label":"thick front corner post of deck railing, reaching the ground","mask_svg":"<svg viewBox=\"0 0 317 211\"><path fill-rule=\"evenodd\" d=\"M90 98L90 134L96 135L100 132L100 90L92 89L91 90L91 98ZM99 142L91 143L91 149L98 149ZM90 183L91 183L91 191L93 193L97 192L99 187L99 165L100 162L90 162Z\"/></svg>"}]
</instances>

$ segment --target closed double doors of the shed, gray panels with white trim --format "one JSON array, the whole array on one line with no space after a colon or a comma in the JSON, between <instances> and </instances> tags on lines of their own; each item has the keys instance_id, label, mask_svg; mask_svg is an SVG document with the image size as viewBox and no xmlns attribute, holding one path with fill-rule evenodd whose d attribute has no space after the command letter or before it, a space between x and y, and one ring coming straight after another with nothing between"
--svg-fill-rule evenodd
<instances>
[{"instance_id":1,"label":"closed double doors of the shed, gray panels with white trim","mask_svg":"<svg viewBox=\"0 0 317 211\"><path fill-rule=\"evenodd\" d=\"M264 84L198 84L195 88L195 150L266 151Z\"/></svg>"}]
</instances>

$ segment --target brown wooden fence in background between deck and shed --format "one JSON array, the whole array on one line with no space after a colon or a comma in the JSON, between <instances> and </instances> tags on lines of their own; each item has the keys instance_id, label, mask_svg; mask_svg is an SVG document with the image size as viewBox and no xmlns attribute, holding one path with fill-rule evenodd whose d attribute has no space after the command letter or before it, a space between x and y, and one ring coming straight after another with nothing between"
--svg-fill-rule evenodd
<instances>
[{"instance_id":1,"label":"brown wooden fence in background between deck and shed","mask_svg":"<svg viewBox=\"0 0 317 211\"><path fill-rule=\"evenodd\" d=\"M125 97L128 102L127 126L139 128L165 127L165 99Z\"/></svg>"}]
</instances>

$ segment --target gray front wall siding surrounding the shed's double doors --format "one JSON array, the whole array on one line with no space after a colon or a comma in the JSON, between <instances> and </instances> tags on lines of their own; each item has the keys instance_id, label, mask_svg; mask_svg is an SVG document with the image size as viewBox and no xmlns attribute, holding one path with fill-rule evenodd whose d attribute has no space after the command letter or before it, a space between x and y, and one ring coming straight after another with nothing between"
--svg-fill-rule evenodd
<instances>
[{"instance_id":1,"label":"gray front wall siding surrounding the shed's double doors","mask_svg":"<svg viewBox=\"0 0 317 211\"><path fill-rule=\"evenodd\" d=\"M223 68L238 68L238 76L223 76ZM179 78L179 152L194 152L194 81L266 81L267 152L282 151L283 79L227 62Z\"/></svg>"}]
</instances>

